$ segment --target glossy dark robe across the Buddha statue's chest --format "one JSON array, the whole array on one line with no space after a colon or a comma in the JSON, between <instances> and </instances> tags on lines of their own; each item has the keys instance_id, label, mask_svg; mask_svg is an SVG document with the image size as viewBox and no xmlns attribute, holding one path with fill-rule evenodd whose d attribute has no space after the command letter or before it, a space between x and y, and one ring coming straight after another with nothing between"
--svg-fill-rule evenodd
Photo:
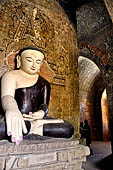
<instances>
[{"instance_id":1,"label":"glossy dark robe across the Buddha statue's chest","mask_svg":"<svg viewBox=\"0 0 113 170\"><path fill-rule=\"evenodd\" d=\"M37 82L30 87L18 88L15 91L15 100L21 113L43 110L47 114L50 100L50 84L39 76Z\"/></svg>"}]
</instances>

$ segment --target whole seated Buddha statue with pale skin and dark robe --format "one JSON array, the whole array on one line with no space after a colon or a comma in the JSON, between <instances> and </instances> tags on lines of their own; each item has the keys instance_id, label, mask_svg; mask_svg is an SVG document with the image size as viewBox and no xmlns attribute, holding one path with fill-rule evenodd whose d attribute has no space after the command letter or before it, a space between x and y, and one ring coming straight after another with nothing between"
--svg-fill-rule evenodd
<instances>
[{"instance_id":1,"label":"whole seated Buddha statue with pale skin and dark robe","mask_svg":"<svg viewBox=\"0 0 113 170\"><path fill-rule=\"evenodd\" d=\"M25 47L16 55L17 69L2 76L0 139L10 136L18 145L28 133L55 138L73 135L70 123L47 117L50 83L39 74L44 58L41 50Z\"/></svg>"}]
</instances>

